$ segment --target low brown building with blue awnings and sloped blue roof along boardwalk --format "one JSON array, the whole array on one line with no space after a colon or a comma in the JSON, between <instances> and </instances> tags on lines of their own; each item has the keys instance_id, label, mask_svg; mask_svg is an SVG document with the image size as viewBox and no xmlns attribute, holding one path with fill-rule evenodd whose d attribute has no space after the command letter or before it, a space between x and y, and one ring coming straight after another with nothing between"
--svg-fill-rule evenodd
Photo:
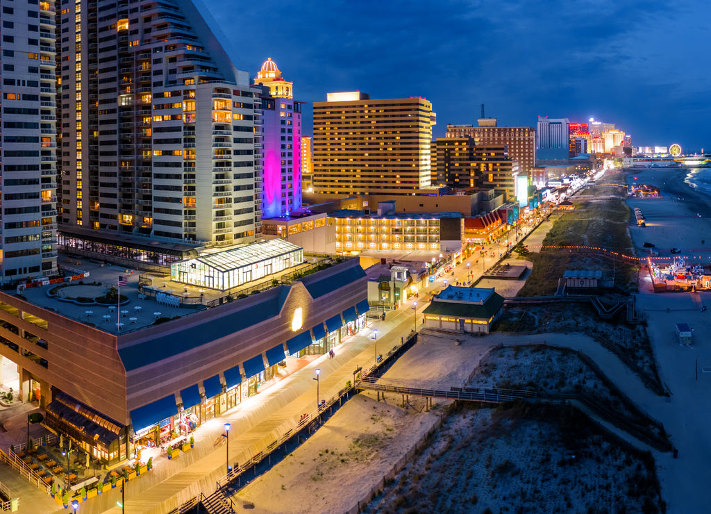
<instances>
[{"instance_id":1,"label":"low brown building with blue awnings and sloped blue roof along boardwalk","mask_svg":"<svg viewBox=\"0 0 711 514\"><path fill-rule=\"evenodd\" d=\"M299 356L326 353L363 328L367 278L358 262L214 306L181 305L171 318L126 331L102 328L116 320L100 321L106 306L50 297L53 285L0 291L0 354L17 365L21 400L46 409L48 429L116 463L135 444L159 444L220 416L282 368L295 370ZM121 289L133 309L156 309L144 292Z\"/></svg>"}]
</instances>

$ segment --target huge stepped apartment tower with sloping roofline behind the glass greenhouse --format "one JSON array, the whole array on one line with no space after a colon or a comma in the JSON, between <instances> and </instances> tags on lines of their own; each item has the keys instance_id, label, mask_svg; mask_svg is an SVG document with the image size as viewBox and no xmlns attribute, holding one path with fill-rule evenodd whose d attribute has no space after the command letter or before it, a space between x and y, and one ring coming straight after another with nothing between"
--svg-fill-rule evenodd
<instances>
[{"instance_id":1,"label":"huge stepped apartment tower with sloping roofline behind the glass greenhouse","mask_svg":"<svg viewBox=\"0 0 711 514\"><path fill-rule=\"evenodd\" d=\"M253 93L209 16L190 0L56 6L60 230L254 241Z\"/></svg>"}]
</instances>

